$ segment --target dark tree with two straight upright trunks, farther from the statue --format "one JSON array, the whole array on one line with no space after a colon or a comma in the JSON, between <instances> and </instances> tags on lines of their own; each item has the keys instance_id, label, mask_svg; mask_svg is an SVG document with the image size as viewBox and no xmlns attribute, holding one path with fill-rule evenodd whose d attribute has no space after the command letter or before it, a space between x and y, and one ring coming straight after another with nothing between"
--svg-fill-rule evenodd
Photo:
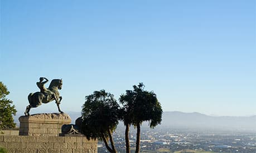
<instances>
[{"instance_id":1,"label":"dark tree with two straight upright trunks, farther from the statue","mask_svg":"<svg viewBox=\"0 0 256 153\"><path fill-rule=\"evenodd\" d=\"M149 121L149 126L154 128L162 121L162 107L158 102L156 94L151 91L145 91L143 83L134 85L133 90L127 90L125 95L120 96L120 102L123 104L123 121L126 127L133 125L137 128L136 151L139 152L141 139L141 124L143 121ZM129 139L125 129L125 142ZM129 151L129 150L127 150Z\"/></svg>"}]
</instances>

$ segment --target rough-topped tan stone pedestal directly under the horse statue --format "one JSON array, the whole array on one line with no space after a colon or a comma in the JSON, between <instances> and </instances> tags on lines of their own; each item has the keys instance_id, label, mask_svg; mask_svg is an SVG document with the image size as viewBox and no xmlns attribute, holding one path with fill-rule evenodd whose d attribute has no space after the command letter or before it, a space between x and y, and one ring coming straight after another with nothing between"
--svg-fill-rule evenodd
<instances>
[{"instance_id":1,"label":"rough-topped tan stone pedestal directly under the horse statue","mask_svg":"<svg viewBox=\"0 0 256 153\"><path fill-rule=\"evenodd\" d=\"M58 136L61 126L70 124L71 118L66 113L38 113L31 116L21 116L19 135Z\"/></svg>"}]
</instances>

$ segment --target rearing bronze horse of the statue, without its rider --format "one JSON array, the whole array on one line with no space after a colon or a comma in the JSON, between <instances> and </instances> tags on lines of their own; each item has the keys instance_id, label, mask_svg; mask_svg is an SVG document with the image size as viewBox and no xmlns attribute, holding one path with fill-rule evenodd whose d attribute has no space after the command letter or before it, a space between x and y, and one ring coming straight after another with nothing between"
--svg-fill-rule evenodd
<instances>
[{"instance_id":1,"label":"rearing bronze horse of the statue, without its rider","mask_svg":"<svg viewBox=\"0 0 256 153\"><path fill-rule=\"evenodd\" d=\"M42 103L48 103L53 100L55 100L58 110L60 113L63 113L60 110L60 101L62 100L62 97L60 96L60 93L58 90L61 90L62 87L62 79L54 79L51 81L49 87L46 89L49 92L35 92L30 93L28 95L28 102L30 105L26 107L26 111L24 112L26 116L30 115L30 109L33 107L38 107L42 105Z\"/></svg>"}]
</instances>

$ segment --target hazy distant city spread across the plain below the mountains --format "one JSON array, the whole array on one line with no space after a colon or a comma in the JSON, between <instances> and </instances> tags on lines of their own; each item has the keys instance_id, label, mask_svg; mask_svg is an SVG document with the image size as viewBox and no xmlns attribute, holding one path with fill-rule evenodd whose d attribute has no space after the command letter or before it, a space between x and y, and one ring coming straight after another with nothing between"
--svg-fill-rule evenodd
<instances>
[{"instance_id":1,"label":"hazy distant city spread across the plain below the mountains","mask_svg":"<svg viewBox=\"0 0 256 153\"><path fill-rule=\"evenodd\" d=\"M125 152L124 128L114 133L119 152ZM136 146L136 130L130 132L131 147ZM141 152L256 152L256 133L190 129L143 129ZM107 152L103 142L98 152Z\"/></svg>"}]
</instances>

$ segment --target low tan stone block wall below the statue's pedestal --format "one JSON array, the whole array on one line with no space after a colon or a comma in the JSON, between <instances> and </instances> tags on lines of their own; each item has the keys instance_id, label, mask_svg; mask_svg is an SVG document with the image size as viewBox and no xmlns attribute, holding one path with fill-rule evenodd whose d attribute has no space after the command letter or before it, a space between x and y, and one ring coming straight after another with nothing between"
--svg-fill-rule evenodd
<instances>
[{"instance_id":1,"label":"low tan stone block wall below the statue's pedestal","mask_svg":"<svg viewBox=\"0 0 256 153\"><path fill-rule=\"evenodd\" d=\"M0 146L7 148L9 153L96 153L97 143L97 140L80 136L0 135Z\"/></svg>"}]
</instances>

